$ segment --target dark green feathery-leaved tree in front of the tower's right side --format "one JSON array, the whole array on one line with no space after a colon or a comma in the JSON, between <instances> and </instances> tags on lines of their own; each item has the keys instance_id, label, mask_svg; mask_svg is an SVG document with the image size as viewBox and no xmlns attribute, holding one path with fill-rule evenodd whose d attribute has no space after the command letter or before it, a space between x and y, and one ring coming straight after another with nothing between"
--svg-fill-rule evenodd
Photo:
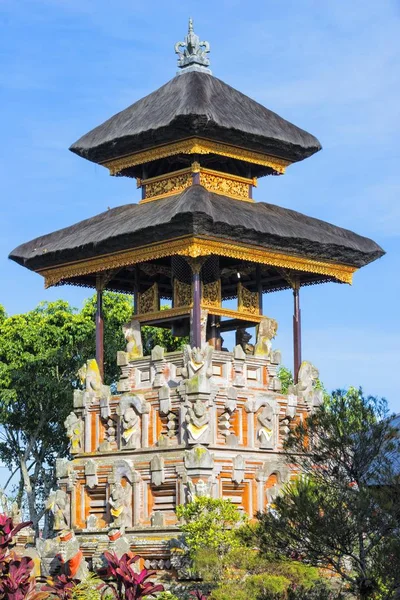
<instances>
[{"instance_id":1,"label":"dark green feathery-leaved tree in front of the tower's right side","mask_svg":"<svg viewBox=\"0 0 400 600\"><path fill-rule=\"evenodd\" d=\"M302 475L258 515L262 551L331 569L357 598L394 598L399 450L384 400L335 392L289 435L287 457Z\"/></svg>"}]
</instances>

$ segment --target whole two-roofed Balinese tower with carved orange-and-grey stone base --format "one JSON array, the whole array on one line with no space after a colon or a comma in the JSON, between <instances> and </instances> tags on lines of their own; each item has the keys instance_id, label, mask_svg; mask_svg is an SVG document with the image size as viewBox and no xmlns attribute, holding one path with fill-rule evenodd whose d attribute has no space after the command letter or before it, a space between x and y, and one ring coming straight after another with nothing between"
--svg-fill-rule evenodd
<instances>
[{"instance_id":1,"label":"whole two-roofed Balinese tower with carved orange-and-grey stone base","mask_svg":"<svg viewBox=\"0 0 400 600\"><path fill-rule=\"evenodd\" d=\"M75 536L86 557L125 544L152 567L182 571L168 541L178 533L177 504L211 495L253 516L290 475L281 459L285 435L320 401L317 371L301 360L301 287L351 283L383 250L256 202L259 177L284 175L320 143L214 77L209 44L191 21L175 51L173 79L70 148L114 177L136 180L139 202L22 244L10 258L46 287L97 290L97 363L82 372L84 389L66 422L72 460L58 464L56 527L70 530L64 538ZM283 289L294 297L289 395L272 350L277 323L263 314L263 295ZM102 382L104 290L134 297L116 394ZM190 344L143 356L144 324L189 335ZM254 326L251 345L246 328ZM236 335L232 352L221 342L227 331Z\"/></svg>"}]
</instances>

